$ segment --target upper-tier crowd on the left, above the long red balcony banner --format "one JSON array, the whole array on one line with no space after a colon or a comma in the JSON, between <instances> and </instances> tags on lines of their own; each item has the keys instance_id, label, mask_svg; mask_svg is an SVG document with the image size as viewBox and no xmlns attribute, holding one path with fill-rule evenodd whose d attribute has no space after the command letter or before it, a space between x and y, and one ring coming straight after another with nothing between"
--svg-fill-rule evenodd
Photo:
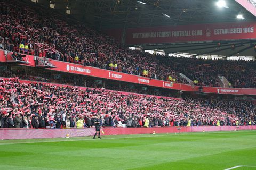
<instances>
[{"instance_id":1,"label":"upper-tier crowd on the left, above the long red balcony banner","mask_svg":"<svg viewBox=\"0 0 256 170\"><path fill-rule=\"evenodd\" d=\"M175 81L186 82L170 68L163 67L166 72L162 73L163 70L155 66L155 57L150 54L121 48L113 38L95 32L83 23L64 19L51 10L45 13L39 7L30 8L19 3L1 3L0 36L4 37L4 49L14 50L23 44L33 49L36 56L102 69L111 69L109 64L113 63L117 70L125 73L141 75L147 70L151 78L166 79L172 75Z\"/></svg>"}]
</instances>

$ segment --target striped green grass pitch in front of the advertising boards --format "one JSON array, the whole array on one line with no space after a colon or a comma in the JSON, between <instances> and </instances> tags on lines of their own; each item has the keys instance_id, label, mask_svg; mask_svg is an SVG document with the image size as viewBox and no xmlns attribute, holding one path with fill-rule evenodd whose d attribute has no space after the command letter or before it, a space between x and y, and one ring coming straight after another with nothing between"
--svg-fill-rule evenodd
<instances>
[{"instance_id":1,"label":"striped green grass pitch in front of the advertising boards","mask_svg":"<svg viewBox=\"0 0 256 170\"><path fill-rule=\"evenodd\" d=\"M232 167L235 170L256 169L256 131L0 141L0 169Z\"/></svg>"}]
</instances>

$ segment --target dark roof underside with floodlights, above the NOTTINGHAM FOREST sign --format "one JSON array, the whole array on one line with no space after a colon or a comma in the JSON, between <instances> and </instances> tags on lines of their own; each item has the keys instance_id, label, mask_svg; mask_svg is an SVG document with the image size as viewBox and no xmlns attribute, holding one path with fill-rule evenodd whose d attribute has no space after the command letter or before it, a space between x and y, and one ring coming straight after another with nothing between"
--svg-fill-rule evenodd
<instances>
[{"instance_id":1,"label":"dark roof underside with floodlights, above the NOTTINGHAM FOREST sign","mask_svg":"<svg viewBox=\"0 0 256 170\"><path fill-rule=\"evenodd\" d=\"M99 29L234 22L242 14L246 21L255 17L235 0L225 0L228 8L218 8L219 0L37 0ZM170 16L167 17L167 16Z\"/></svg>"}]
</instances>

